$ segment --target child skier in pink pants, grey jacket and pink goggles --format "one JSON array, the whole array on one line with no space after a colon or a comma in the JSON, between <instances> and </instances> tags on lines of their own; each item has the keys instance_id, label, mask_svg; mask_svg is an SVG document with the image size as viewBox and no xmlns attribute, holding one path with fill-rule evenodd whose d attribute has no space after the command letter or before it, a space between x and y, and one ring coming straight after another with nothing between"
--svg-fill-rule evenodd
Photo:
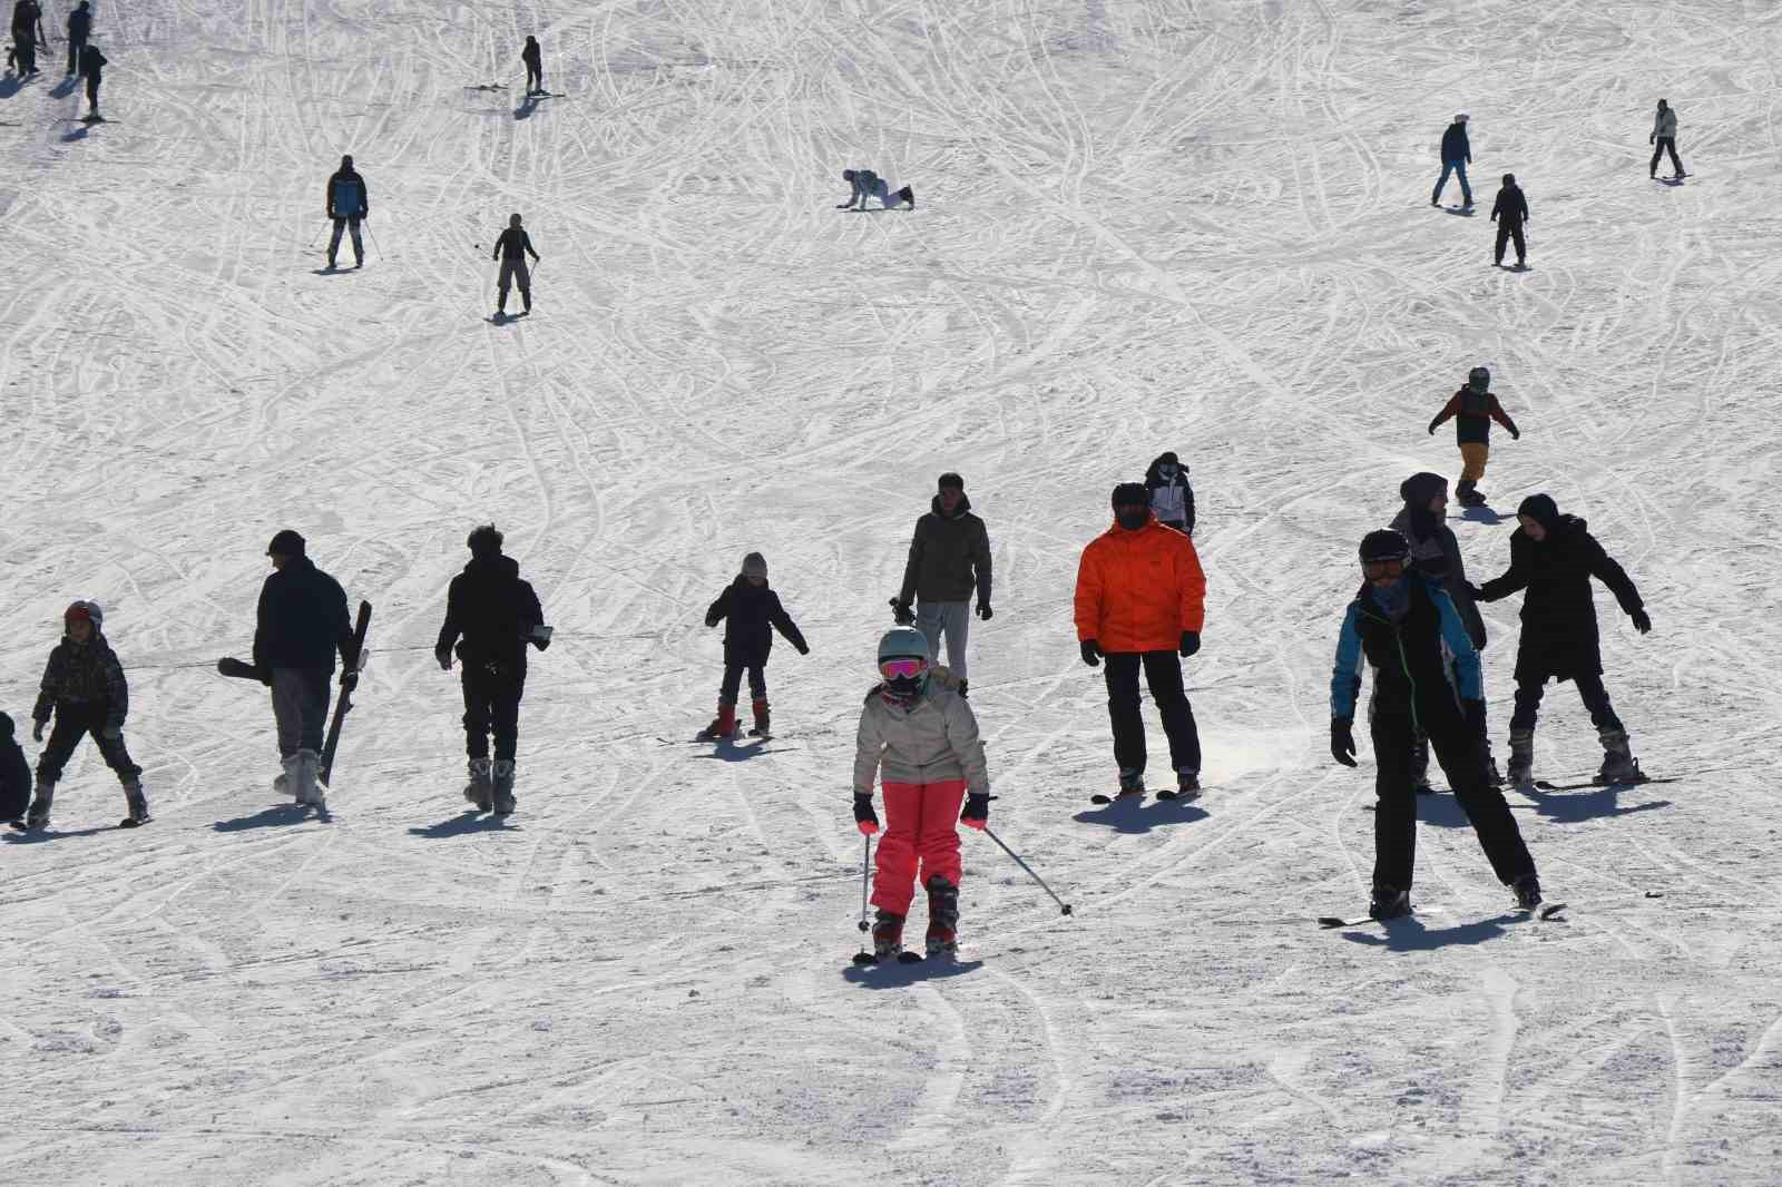
<instances>
[{"instance_id":1,"label":"child skier in pink pants, grey jacket and pink goggles","mask_svg":"<svg viewBox=\"0 0 1782 1187\"><path fill-rule=\"evenodd\" d=\"M991 775L978 720L946 668L932 667L928 640L907 626L879 640L879 684L866 693L854 749L854 822L879 832L873 777L886 797L886 834L873 877L873 955L903 950L903 918L920 875L928 891L930 957L952 955L959 930L959 829L991 815ZM964 811L960 811L964 800Z\"/></svg>"}]
</instances>

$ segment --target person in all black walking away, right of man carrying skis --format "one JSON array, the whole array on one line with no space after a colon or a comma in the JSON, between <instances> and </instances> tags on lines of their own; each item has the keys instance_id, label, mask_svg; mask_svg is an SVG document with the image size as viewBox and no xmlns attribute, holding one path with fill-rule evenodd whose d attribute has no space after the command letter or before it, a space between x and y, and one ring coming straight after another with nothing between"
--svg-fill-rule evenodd
<instances>
[{"instance_id":1,"label":"person in all black walking away, right of man carrying skis","mask_svg":"<svg viewBox=\"0 0 1782 1187\"><path fill-rule=\"evenodd\" d=\"M551 627L533 586L520 579L520 563L501 554L494 524L470 533L470 563L451 579L446 622L433 658L451 672L453 647L463 663L463 745L470 782L463 798L478 809L513 813L513 759L520 740L520 697L526 693L526 645L551 645ZM488 736L495 757L488 757Z\"/></svg>"}]
</instances>

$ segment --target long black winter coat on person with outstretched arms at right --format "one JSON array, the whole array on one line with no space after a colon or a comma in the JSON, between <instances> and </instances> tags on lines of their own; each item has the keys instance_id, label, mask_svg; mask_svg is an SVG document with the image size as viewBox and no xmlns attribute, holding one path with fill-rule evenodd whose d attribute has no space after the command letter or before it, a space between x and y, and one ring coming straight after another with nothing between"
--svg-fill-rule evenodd
<instances>
[{"instance_id":1,"label":"long black winter coat on person with outstretched arms at right","mask_svg":"<svg viewBox=\"0 0 1782 1187\"><path fill-rule=\"evenodd\" d=\"M1518 683L1602 674L1591 577L1609 586L1629 615L1645 608L1627 572L1577 515L1561 515L1540 544L1520 528L1509 536L1509 570L1486 581L1479 601L1495 602L1527 590L1516 645Z\"/></svg>"}]
</instances>

